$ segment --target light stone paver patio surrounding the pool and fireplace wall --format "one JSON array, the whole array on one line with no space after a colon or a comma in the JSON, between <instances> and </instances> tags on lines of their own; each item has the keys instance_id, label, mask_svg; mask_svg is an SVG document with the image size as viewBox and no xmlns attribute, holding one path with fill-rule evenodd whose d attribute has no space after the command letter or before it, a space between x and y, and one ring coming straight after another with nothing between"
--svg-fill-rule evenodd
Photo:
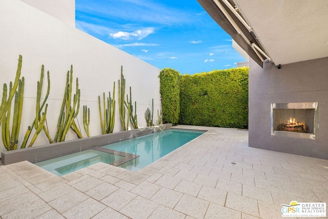
<instances>
[{"instance_id":1,"label":"light stone paver patio surrounding the pool and fireplace wall","mask_svg":"<svg viewBox=\"0 0 328 219\"><path fill-rule=\"evenodd\" d=\"M178 127L209 131L138 172L0 166L1 218L281 218L280 204L328 203L328 160L250 148L244 130Z\"/></svg>"}]
</instances>

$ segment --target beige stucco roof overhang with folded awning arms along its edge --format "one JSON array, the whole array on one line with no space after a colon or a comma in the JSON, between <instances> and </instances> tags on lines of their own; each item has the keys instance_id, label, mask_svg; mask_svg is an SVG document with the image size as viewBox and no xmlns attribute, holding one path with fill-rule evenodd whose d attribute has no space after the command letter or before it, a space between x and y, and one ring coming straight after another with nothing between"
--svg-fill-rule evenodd
<instances>
[{"instance_id":1,"label":"beige stucco roof overhang with folded awning arms along its edge","mask_svg":"<svg viewBox=\"0 0 328 219\"><path fill-rule=\"evenodd\" d=\"M328 56L326 0L197 0L260 66Z\"/></svg>"}]
</instances>

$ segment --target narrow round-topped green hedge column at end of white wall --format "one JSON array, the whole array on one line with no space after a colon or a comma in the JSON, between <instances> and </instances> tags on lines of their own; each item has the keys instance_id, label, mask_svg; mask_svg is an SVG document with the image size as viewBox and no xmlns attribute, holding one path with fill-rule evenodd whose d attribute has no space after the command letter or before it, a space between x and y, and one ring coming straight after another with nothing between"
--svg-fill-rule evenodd
<instances>
[{"instance_id":1,"label":"narrow round-topped green hedge column at end of white wall","mask_svg":"<svg viewBox=\"0 0 328 219\"><path fill-rule=\"evenodd\" d=\"M163 123L177 125L180 113L180 78L181 74L173 69L165 68L159 74L159 93L163 111Z\"/></svg>"}]
</instances>

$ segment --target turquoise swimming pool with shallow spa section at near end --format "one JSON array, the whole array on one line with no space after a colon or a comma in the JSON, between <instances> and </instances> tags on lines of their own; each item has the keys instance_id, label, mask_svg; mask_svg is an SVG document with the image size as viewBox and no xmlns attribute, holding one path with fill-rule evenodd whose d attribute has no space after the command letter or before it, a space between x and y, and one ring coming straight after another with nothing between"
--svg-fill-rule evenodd
<instances>
[{"instance_id":1,"label":"turquoise swimming pool with shallow spa section at near end","mask_svg":"<svg viewBox=\"0 0 328 219\"><path fill-rule=\"evenodd\" d=\"M98 162L138 171L204 132L206 131L171 128L99 148L60 156L35 163L35 165L59 176Z\"/></svg>"}]
</instances>

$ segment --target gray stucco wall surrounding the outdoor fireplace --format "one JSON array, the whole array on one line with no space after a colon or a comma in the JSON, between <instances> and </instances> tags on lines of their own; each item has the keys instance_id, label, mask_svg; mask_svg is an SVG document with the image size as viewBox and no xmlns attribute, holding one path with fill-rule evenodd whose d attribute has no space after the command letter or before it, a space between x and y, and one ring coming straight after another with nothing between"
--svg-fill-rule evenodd
<instances>
[{"instance_id":1,"label":"gray stucco wall surrounding the outdoor fireplace","mask_svg":"<svg viewBox=\"0 0 328 219\"><path fill-rule=\"evenodd\" d=\"M319 139L270 135L270 104L319 102ZM328 57L263 69L250 59L249 146L328 159Z\"/></svg>"}]
</instances>

